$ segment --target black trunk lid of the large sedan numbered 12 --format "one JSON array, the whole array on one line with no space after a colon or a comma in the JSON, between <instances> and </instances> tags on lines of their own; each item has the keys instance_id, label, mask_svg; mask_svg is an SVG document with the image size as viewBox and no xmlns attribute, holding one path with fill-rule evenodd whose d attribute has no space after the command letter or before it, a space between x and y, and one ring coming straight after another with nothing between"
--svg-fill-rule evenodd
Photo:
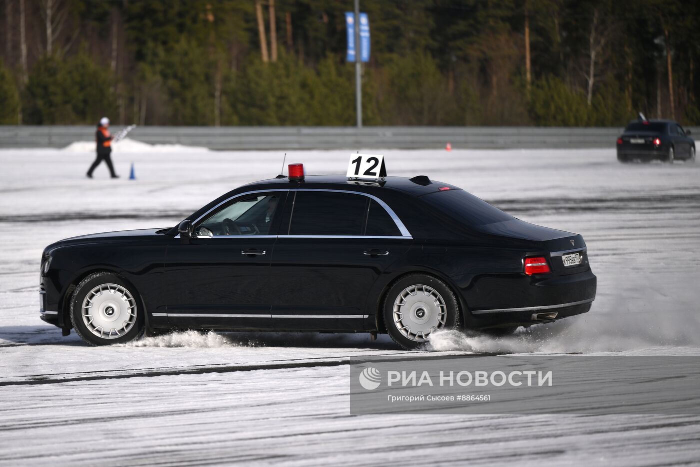
<instances>
[{"instance_id":1,"label":"black trunk lid of the large sedan numbered 12","mask_svg":"<svg viewBox=\"0 0 700 467\"><path fill-rule=\"evenodd\" d=\"M582 248L586 245L586 243L583 241L583 237L579 234L572 234L571 232L563 230L549 229L549 227L530 224L529 222L521 221L520 219L511 219L503 222L494 222L493 224L484 224L475 227L475 229L483 232L484 234L541 243L546 250L549 250L549 252L573 250L575 248Z\"/></svg>"}]
</instances>

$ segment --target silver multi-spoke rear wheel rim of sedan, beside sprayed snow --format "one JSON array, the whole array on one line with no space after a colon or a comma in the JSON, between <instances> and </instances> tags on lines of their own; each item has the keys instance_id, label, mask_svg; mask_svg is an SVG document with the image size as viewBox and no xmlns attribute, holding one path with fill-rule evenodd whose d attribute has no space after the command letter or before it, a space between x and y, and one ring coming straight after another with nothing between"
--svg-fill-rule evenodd
<instances>
[{"instance_id":1,"label":"silver multi-spoke rear wheel rim of sedan, beside sprayed snow","mask_svg":"<svg viewBox=\"0 0 700 467\"><path fill-rule=\"evenodd\" d=\"M427 341L430 332L444 327L446 319L447 306L442 296L428 285L406 287L394 301L396 329L412 341Z\"/></svg>"}]
</instances>

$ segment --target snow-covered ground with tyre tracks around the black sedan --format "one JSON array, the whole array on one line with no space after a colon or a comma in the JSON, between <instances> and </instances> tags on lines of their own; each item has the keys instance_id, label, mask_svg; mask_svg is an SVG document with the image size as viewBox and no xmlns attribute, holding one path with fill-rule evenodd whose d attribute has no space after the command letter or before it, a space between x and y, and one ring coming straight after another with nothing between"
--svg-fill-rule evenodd
<instances>
[{"instance_id":1,"label":"snow-covered ground with tyre tracks around the black sedan","mask_svg":"<svg viewBox=\"0 0 700 467\"><path fill-rule=\"evenodd\" d=\"M41 250L96 231L172 226L283 154L116 145L122 178L85 178L94 143L0 149L0 464L671 465L700 462L700 417L349 415L352 360L495 353L700 356L700 164L620 165L610 150L367 150L513 215L586 239L590 313L424 351L381 338L199 334L90 348L38 319ZM358 148L362 151L363 148ZM307 174L350 151L293 151ZM134 163L137 180L127 180Z\"/></svg>"}]
</instances>

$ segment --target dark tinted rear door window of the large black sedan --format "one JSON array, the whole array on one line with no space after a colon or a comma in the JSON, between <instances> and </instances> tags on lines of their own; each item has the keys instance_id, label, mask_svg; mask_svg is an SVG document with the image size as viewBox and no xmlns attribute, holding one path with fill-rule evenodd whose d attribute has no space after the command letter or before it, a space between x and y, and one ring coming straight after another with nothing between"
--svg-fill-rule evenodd
<instances>
[{"instance_id":1,"label":"dark tinted rear door window of the large black sedan","mask_svg":"<svg viewBox=\"0 0 700 467\"><path fill-rule=\"evenodd\" d=\"M330 191L297 191L289 235L362 235L367 197Z\"/></svg>"}]
</instances>

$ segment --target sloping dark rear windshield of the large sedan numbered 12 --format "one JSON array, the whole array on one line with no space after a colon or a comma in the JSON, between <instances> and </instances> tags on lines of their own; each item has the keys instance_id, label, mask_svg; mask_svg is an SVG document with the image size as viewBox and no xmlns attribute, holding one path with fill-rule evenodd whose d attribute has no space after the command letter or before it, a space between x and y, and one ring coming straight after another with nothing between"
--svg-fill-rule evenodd
<instances>
[{"instance_id":1,"label":"sloping dark rear windshield of the large sedan numbered 12","mask_svg":"<svg viewBox=\"0 0 700 467\"><path fill-rule=\"evenodd\" d=\"M423 199L437 210L444 212L468 226L493 224L513 219L498 208L494 208L481 198L467 193L464 190L451 189L437 191L423 196Z\"/></svg>"}]
</instances>

